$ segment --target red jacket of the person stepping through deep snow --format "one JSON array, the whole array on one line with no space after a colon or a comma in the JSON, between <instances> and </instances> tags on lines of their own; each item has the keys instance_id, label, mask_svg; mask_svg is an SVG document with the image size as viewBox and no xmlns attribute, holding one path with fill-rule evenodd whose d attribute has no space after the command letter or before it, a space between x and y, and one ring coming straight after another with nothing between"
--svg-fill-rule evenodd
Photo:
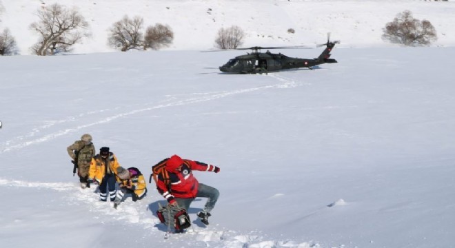
<instances>
[{"instance_id":1,"label":"red jacket of the person stepping through deep snow","mask_svg":"<svg viewBox=\"0 0 455 248\"><path fill-rule=\"evenodd\" d=\"M158 175L156 189L168 203L174 203L174 198L196 198L199 187L198 180L192 174L193 170L203 172L214 172L215 166L201 163L198 161L183 160L183 166L180 172L169 172L170 189L165 185L163 175Z\"/></svg>"}]
</instances>

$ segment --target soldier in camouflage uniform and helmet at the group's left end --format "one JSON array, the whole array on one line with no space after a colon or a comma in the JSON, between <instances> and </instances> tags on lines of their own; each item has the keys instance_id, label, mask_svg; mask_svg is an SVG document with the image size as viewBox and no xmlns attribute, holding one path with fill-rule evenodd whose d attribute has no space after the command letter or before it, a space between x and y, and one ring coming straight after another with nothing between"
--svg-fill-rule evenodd
<instances>
[{"instance_id":1,"label":"soldier in camouflage uniform and helmet at the group's left end","mask_svg":"<svg viewBox=\"0 0 455 248\"><path fill-rule=\"evenodd\" d=\"M72 158L72 163L77 165L77 175L79 176L79 182L81 182L81 188L90 187L90 183L88 183L88 171L92 158L95 155L92 136L90 134L83 134L80 141L74 141L74 144L66 149Z\"/></svg>"}]
</instances>

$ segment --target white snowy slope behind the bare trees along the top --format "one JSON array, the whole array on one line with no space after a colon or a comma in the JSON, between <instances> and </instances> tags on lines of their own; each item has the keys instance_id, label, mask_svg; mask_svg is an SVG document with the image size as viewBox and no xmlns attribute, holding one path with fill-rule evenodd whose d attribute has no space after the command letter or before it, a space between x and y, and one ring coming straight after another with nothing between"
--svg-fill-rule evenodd
<instances>
[{"instance_id":1,"label":"white snowy slope behind the bare trees along the top","mask_svg":"<svg viewBox=\"0 0 455 248\"><path fill-rule=\"evenodd\" d=\"M20 54L30 54L37 35L29 26L36 12L52 1L3 1L0 28L9 28ZM392 46L381 39L385 23L399 12L410 10L416 19L429 20L438 33L433 45L455 44L453 1L58 1L79 9L90 25L92 37L74 46L74 53L112 52L108 28L125 14L143 17L145 26L163 23L174 31L167 50L208 50L220 28L239 25L247 34L243 46L314 45L325 41L327 32L341 46ZM287 32L290 28L294 34Z\"/></svg>"}]
</instances>

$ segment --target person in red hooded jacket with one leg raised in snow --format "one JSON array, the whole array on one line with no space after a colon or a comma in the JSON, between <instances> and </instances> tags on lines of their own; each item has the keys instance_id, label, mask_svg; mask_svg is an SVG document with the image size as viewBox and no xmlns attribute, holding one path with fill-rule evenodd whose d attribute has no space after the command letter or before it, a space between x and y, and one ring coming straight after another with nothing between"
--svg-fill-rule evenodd
<instances>
[{"instance_id":1,"label":"person in red hooded jacket with one leg raised in snow","mask_svg":"<svg viewBox=\"0 0 455 248\"><path fill-rule=\"evenodd\" d=\"M163 174L158 175L156 183L158 192L168 200L169 204L179 205L179 207L183 207L187 211L194 198L208 198L203 211L200 211L197 216L202 223L209 225L210 211L214 208L220 193L214 187L199 183L193 176L192 171L218 173L220 168L198 161L183 160L181 157L173 155L166 162L165 169L169 172L169 180L165 180ZM165 183L165 181L168 183Z\"/></svg>"}]
</instances>

